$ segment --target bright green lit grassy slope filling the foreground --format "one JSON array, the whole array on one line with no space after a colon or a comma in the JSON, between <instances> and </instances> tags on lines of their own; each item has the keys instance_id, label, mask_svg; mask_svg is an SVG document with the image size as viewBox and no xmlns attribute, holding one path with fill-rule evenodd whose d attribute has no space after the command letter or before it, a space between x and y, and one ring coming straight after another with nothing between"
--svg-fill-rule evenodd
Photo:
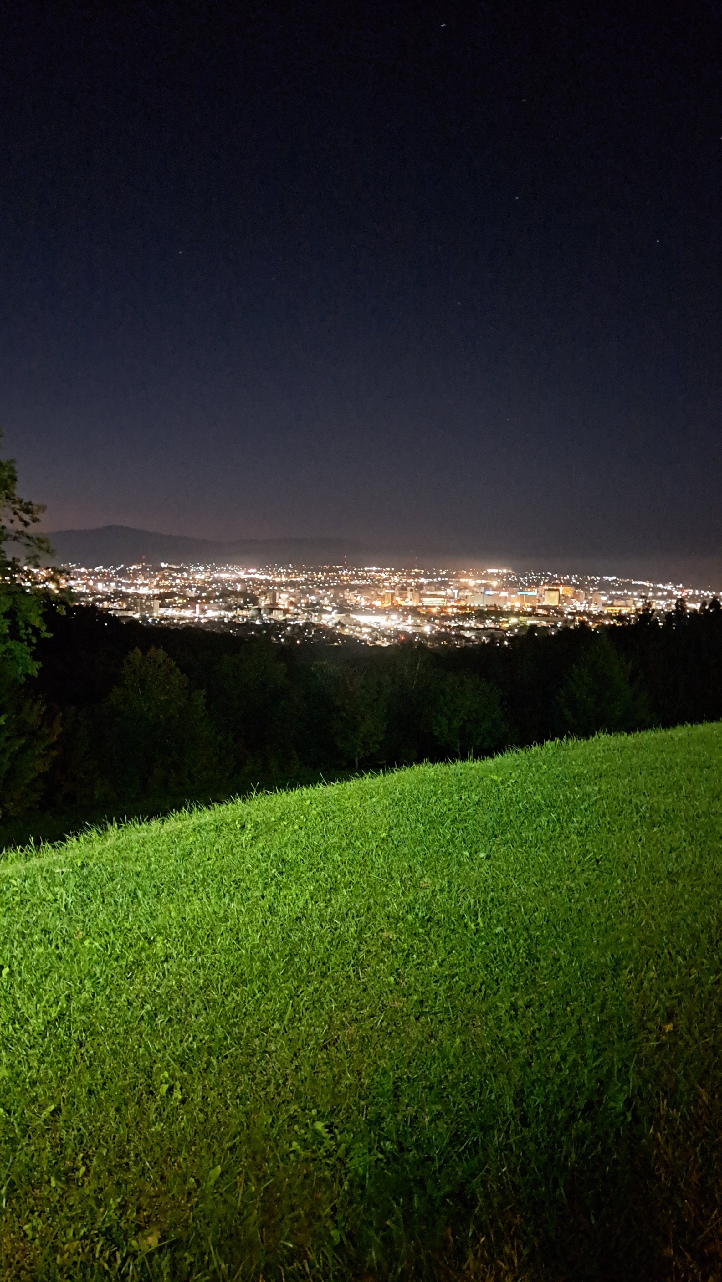
<instances>
[{"instance_id":1,"label":"bright green lit grassy slope filling the foreground","mask_svg":"<svg viewBox=\"0 0 722 1282\"><path fill-rule=\"evenodd\" d=\"M9 853L0 1276L719 1278L721 837L716 724Z\"/></svg>"}]
</instances>

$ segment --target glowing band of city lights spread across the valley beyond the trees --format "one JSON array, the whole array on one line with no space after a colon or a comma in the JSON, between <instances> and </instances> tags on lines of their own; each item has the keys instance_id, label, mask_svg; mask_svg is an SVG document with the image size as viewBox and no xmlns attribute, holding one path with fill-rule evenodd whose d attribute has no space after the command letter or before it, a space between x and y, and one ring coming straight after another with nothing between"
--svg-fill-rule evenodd
<instances>
[{"instance_id":1,"label":"glowing band of city lights spread across the valley beyond the trees","mask_svg":"<svg viewBox=\"0 0 722 1282\"><path fill-rule=\"evenodd\" d=\"M49 570L28 574L42 581ZM444 645L505 641L530 626L599 626L642 608L664 613L681 596L687 609L699 609L713 595L613 574L517 574L496 567L67 565L62 583L78 604L154 626L371 645L414 636Z\"/></svg>"}]
</instances>

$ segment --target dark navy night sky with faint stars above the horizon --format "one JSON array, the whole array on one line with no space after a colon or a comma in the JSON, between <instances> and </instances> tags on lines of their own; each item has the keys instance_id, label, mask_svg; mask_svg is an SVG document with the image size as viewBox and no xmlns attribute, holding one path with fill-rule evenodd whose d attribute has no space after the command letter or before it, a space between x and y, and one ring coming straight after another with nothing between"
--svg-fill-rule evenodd
<instances>
[{"instance_id":1,"label":"dark navy night sky with faint stars above the horizon","mask_svg":"<svg viewBox=\"0 0 722 1282\"><path fill-rule=\"evenodd\" d=\"M722 555L718 5L0 19L0 423L46 528Z\"/></svg>"}]
</instances>

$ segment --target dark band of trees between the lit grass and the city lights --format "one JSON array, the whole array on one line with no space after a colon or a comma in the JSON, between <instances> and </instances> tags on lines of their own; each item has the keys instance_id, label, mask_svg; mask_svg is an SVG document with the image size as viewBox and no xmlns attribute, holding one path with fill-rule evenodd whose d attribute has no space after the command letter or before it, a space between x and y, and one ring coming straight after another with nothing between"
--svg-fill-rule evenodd
<instances>
[{"instance_id":1,"label":"dark band of trees between the lit grass and the city lights","mask_svg":"<svg viewBox=\"0 0 722 1282\"><path fill-rule=\"evenodd\" d=\"M678 603L662 622L642 612L441 651L282 646L80 606L46 620L23 678L24 722L13 723L33 764L4 787L10 814L159 806L318 772L722 719L718 601L699 613Z\"/></svg>"}]
</instances>

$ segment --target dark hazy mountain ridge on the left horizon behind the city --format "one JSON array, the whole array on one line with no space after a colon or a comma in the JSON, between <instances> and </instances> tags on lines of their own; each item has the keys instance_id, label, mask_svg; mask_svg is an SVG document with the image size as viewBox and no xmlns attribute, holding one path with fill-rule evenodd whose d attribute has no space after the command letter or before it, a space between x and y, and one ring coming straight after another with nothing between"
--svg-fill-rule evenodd
<instances>
[{"instance_id":1,"label":"dark hazy mountain ridge on the left horizon behind the city","mask_svg":"<svg viewBox=\"0 0 722 1282\"><path fill-rule=\"evenodd\" d=\"M331 565L351 563L364 553L362 544L350 538L239 538L215 542L210 538L186 538L183 535L160 535L130 526L100 526L97 529L54 529L47 536L55 553L54 560L76 565L132 565L145 560L149 565L176 564L265 565Z\"/></svg>"}]
</instances>

